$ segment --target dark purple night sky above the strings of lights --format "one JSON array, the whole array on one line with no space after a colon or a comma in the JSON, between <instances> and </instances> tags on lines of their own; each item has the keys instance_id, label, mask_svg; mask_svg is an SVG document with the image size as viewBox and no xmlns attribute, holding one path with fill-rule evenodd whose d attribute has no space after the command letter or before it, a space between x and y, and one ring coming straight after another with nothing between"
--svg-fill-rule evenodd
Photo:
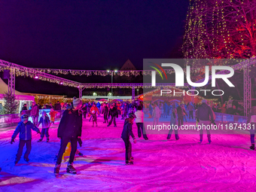
<instances>
[{"instance_id":1,"label":"dark purple night sky above the strings of lights","mask_svg":"<svg viewBox=\"0 0 256 192\"><path fill-rule=\"evenodd\" d=\"M119 69L130 59L142 69L143 58L181 57L187 7L188 0L1 1L0 59L53 69Z\"/></svg>"}]
</instances>

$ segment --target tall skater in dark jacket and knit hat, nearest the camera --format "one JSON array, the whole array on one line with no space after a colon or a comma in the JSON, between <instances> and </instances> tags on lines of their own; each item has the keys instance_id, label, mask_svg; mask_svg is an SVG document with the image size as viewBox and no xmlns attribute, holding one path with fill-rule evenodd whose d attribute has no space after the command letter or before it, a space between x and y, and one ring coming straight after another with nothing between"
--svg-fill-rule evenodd
<instances>
[{"instance_id":1,"label":"tall skater in dark jacket and knit hat, nearest the camera","mask_svg":"<svg viewBox=\"0 0 256 192\"><path fill-rule=\"evenodd\" d=\"M74 108L69 108L64 111L63 117L59 122L58 137L61 139L59 154L54 168L54 173L59 174L60 163L62 156L66 150L66 146L71 142L72 150L69 157L69 163L67 166L67 172L76 174L76 169L73 166L75 158L75 152L78 148L78 139L81 139L83 117L81 107L83 102L81 99L73 98Z\"/></svg>"}]
</instances>

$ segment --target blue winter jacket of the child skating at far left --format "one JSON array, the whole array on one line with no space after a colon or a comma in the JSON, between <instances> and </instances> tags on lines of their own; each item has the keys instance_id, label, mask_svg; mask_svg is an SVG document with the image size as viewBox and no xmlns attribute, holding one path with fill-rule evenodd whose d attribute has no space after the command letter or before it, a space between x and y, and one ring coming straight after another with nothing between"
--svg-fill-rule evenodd
<instances>
[{"instance_id":1,"label":"blue winter jacket of the child skating at far left","mask_svg":"<svg viewBox=\"0 0 256 192\"><path fill-rule=\"evenodd\" d=\"M20 122L18 124L18 126L16 127L16 130L14 131L14 135L11 136L12 139L15 139L18 135L18 133L20 133L20 140L30 140L32 139L32 131L34 130L35 132L39 133L39 129L38 127L36 127L33 123L31 123L31 121L28 121L28 123L23 123Z\"/></svg>"}]
</instances>

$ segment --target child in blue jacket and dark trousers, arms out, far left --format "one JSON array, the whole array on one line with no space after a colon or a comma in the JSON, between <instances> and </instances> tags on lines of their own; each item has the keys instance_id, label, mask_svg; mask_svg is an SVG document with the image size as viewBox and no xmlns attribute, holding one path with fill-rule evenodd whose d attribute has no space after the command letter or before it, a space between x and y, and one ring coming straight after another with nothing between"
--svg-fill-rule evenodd
<instances>
[{"instance_id":1,"label":"child in blue jacket and dark trousers, arms out, far left","mask_svg":"<svg viewBox=\"0 0 256 192\"><path fill-rule=\"evenodd\" d=\"M19 149L16 155L16 159L14 161L14 164L16 165L20 161L20 157L23 154L23 147L26 144L26 153L24 154L24 160L29 163L29 154L31 151L31 139L32 139L32 132L31 130L34 130L37 133L40 133L40 130L38 127L36 127L31 121L29 121L29 116L27 114L23 114L23 116L20 117L21 121L16 127L16 130L14 131L14 135L11 137L11 144L14 143L14 139L20 133L20 144Z\"/></svg>"}]
</instances>

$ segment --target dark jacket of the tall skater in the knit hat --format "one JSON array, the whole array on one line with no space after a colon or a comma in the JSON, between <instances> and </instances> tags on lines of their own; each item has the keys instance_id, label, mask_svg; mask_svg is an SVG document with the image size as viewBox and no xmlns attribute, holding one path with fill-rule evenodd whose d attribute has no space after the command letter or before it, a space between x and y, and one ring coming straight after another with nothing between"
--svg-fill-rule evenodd
<instances>
[{"instance_id":1,"label":"dark jacket of the tall skater in the knit hat","mask_svg":"<svg viewBox=\"0 0 256 192\"><path fill-rule=\"evenodd\" d=\"M64 111L59 122L58 137L78 138L82 134L82 126L82 111L69 108Z\"/></svg>"}]
</instances>

